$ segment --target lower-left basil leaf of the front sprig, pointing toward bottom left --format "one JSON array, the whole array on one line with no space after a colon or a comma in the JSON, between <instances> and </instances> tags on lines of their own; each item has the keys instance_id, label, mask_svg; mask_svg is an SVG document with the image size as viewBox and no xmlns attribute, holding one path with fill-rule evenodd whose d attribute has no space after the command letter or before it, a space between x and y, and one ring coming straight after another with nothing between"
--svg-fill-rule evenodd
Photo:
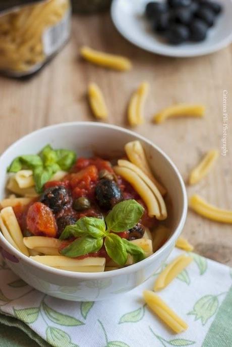
<instances>
[{"instance_id":1,"label":"lower-left basil leaf of the front sprig, pointing toward bottom left","mask_svg":"<svg viewBox=\"0 0 232 347\"><path fill-rule=\"evenodd\" d=\"M102 238L93 238L88 236L83 236L77 238L67 247L60 251L61 254L75 258L79 256L83 256L90 252L97 252L100 250L103 244Z\"/></svg>"}]
</instances>

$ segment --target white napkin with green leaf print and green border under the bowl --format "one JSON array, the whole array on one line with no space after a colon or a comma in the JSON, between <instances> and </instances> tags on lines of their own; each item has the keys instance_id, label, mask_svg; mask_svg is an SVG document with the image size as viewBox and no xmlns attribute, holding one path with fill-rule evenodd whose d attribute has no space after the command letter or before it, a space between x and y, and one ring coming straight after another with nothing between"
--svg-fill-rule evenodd
<instances>
[{"instance_id":1,"label":"white napkin with green leaf print and green border under the bowl","mask_svg":"<svg viewBox=\"0 0 232 347\"><path fill-rule=\"evenodd\" d=\"M174 250L167 263L181 253ZM142 291L152 289L158 272L139 287L113 300L74 303L31 288L17 278L3 260L0 323L20 327L31 338L31 346L231 347L231 269L197 254L192 255L194 261L189 267L159 292L189 324L189 329L182 334L168 330L142 300ZM1 341L4 339L0 335L1 346L16 346L14 342L1 344Z\"/></svg>"}]
</instances>

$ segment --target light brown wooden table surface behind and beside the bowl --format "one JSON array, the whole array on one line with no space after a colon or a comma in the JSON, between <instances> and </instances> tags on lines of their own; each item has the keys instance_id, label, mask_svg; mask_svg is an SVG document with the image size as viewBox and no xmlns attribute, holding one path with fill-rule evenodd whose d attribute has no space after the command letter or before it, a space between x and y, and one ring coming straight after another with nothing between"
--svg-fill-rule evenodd
<instances>
[{"instance_id":1,"label":"light brown wooden table surface behind and beside the bowl","mask_svg":"<svg viewBox=\"0 0 232 347\"><path fill-rule=\"evenodd\" d=\"M79 59L81 45L133 61L130 72L115 72ZM127 127L126 109L132 91L147 80L146 122L135 131L151 139L176 163L186 181L189 171L211 148L221 151L222 94L227 90L227 111L232 101L232 47L199 58L175 59L156 56L127 42L113 27L107 13L75 16L72 37L63 51L29 81L0 78L0 152L19 137L43 126L69 121L93 120L86 99L90 81L103 90L109 109L108 122ZM167 120L151 123L152 115L173 103L206 106L204 119ZM227 155L219 157L210 174L199 184L187 186L210 203L232 209L232 132L227 130ZM229 123L228 123L229 125ZM189 211L184 235L195 250L232 265L232 228Z\"/></svg>"}]
</instances>

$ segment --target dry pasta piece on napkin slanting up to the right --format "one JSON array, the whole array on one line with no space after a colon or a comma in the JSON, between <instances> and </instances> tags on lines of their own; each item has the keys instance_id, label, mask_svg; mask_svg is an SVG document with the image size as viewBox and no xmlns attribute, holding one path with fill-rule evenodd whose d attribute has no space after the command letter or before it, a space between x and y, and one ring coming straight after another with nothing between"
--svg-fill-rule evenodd
<instances>
[{"instance_id":1,"label":"dry pasta piece on napkin slanting up to the right","mask_svg":"<svg viewBox=\"0 0 232 347\"><path fill-rule=\"evenodd\" d=\"M165 288L179 273L181 273L191 262L193 258L186 255L180 255L168 264L155 280L154 290Z\"/></svg>"}]
</instances>

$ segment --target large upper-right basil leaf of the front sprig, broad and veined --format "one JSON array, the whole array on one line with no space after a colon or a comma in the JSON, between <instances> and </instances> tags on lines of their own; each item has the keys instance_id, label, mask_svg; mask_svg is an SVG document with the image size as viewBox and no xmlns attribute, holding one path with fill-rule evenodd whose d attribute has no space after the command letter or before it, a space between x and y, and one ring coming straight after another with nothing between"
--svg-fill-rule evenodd
<instances>
[{"instance_id":1,"label":"large upper-right basil leaf of the front sprig, broad and veined","mask_svg":"<svg viewBox=\"0 0 232 347\"><path fill-rule=\"evenodd\" d=\"M108 230L115 232L133 228L142 217L144 208L135 200L125 200L115 205L105 221Z\"/></svg>"}]
</instances>

